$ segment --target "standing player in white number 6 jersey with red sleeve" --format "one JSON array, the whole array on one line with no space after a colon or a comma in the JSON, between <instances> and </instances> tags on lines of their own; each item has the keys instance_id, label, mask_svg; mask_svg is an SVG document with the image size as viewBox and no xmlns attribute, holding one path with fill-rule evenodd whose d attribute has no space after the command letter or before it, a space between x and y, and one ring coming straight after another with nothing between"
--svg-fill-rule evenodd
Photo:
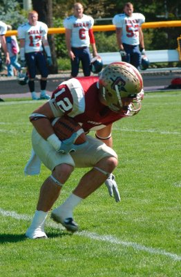
<instances>
[{"instance_id":1,"label":"standing player in white number 6 jersey with red sleeve","mask_svg":"<svg viewBox=\"0 0 181 277\"><path fill-rule=\"evenodd\" d=\"M84 15L84 8L81 3L74 4L74 14L64 19L66 28L66 46L71 62L71 76L76 77L79 73L79 62L82 62L82 69L85 76L90 75L90 50L93 48L93 57L97 56L95 37L93 35L94 19Z\"/></svg>"}]
</instances>

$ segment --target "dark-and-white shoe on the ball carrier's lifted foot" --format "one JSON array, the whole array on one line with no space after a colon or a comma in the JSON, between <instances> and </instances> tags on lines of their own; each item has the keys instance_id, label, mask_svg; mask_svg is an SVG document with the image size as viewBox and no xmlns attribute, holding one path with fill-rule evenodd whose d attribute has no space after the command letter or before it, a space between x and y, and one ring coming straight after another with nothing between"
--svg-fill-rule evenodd
<instances>
[{"instance_id":1,"label":"dark-and-white shoe on the ball carrier's lifted foot","mask_svg":"<svg viewBox=\"0 0 181 277\"><path fill-rule=\"evenodd\" d=\"M60 213L58 211L56 211L57 209L55 208L52 213L51 213L51 218L57 222L57 223L61 223L61 225L63 225L67 231L70 232L76 232L79 229L79 226L77 225L77 223L73 220L73 217L68 217L68 218L63 218L61 217Z\"/></svg>"}]
</instances>

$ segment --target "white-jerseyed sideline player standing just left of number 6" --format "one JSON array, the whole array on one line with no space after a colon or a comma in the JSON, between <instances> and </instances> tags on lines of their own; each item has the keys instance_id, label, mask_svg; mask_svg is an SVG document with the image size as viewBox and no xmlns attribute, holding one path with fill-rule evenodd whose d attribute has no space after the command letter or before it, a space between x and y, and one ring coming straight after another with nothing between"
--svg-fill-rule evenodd
<instances>
[{"instance_id":1,"label":"white-jerseyed sideline player standing just left of number 6","mask_svg":"<svg viewBox=\"0 0 181 277\"><path fill-rule=\"evenodd\" d=\"M41 74L40 99L50 99L46 94L46 82L48 77L47 64L52 65L50 46L48 44L48 26L38 21L38 14L35 10L28 13L28 22L19 26L18 36L20 42L21 66L28 68L28 87L32 94L32 100L39 99L35 92L35 76L37 68ZM44 44L44 48L43 48ZM44 50L47 57L44 55Z\"/></svg>"}]
</instances>

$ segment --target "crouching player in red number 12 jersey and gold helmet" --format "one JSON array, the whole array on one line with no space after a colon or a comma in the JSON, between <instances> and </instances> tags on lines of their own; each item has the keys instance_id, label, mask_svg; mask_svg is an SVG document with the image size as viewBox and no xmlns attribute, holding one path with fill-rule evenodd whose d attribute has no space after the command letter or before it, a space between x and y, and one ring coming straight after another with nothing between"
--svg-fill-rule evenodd
<instances>
[{"instance_id":1,"label":"crouching player in red number 12 jersey and gold helmet","mask_svg":"<svg viewBox=\"0 0 181 277\"><path fill-rule=\"evenodd\" d=\"M106 66L98 77L72 78L59 84L52 98L30 115L34 126L32 148L34 150L25 168L28 175L38 174L35 161L51 170L51 175L41 186L37 211L26 237L47 238L44 223L48 211L59 197L61 187L68 181L74 168L91 168L66 202L55 208L51 217L68 231L77 231L73 209L83 199L106 183L110 195L120 202L120 194L114 180L117 154L111 137L113 122L137 114L144 96L142 76L131 64L114 62ZM84 132L95 131L95 138L86 135L87 142L73 145L73 140L60 141L55 135L51 120L64 114L82 125ZM70 152L70 150L75 150Z\"/></svg>"}]
</instances>

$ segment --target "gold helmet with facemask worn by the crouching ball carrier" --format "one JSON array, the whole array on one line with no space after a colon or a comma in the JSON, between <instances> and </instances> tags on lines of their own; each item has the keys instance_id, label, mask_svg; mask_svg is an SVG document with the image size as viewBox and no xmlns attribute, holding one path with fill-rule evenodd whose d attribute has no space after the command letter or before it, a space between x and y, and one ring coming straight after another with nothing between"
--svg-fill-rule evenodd
<instances>
[{"instance_id":1,"label":"gold helmet with facemask worn by the crouching ball carrier","mask_svg":"<svg viewBox=\"0 0 181 277\"><path fill-rule=\"evenodd\" d=\"M99 77L99 87L105 105L112 111L133 116L141 109L144 96L142 76L126 62L113 62Z\"/></svg>"}]
</instances>

